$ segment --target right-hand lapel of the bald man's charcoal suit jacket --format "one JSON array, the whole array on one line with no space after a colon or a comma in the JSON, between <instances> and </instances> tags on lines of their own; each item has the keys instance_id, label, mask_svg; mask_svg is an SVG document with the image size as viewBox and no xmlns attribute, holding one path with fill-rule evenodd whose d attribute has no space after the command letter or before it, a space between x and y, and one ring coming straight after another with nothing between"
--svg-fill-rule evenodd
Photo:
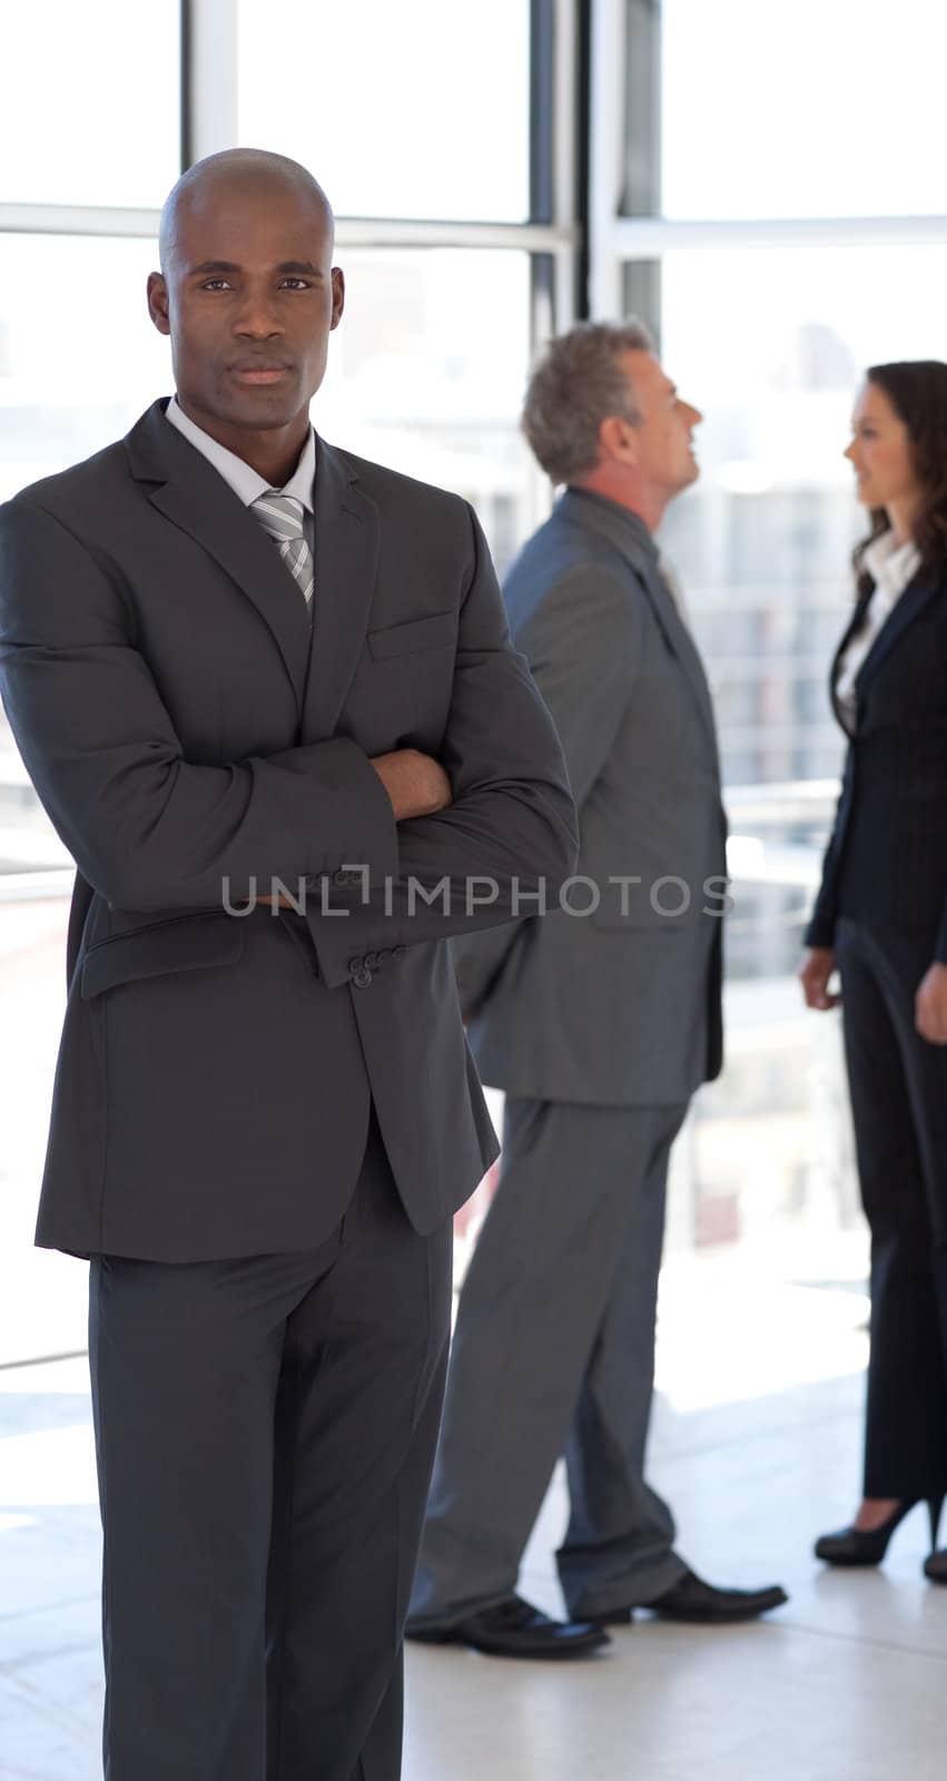
<instances>
[{"instance_id":1,"label":"right-hand lapel of the bald man's charcoal suit jacket","mask_svg":"<svg viewBox=\"0 0 947 1781\"><path fill-rule=\"evenodd\" d=\"M377 572L377 508L351 461L319 440L315 474L315 595L303 734L335 734L365 645Z\"/></svg>"}]
</instances>

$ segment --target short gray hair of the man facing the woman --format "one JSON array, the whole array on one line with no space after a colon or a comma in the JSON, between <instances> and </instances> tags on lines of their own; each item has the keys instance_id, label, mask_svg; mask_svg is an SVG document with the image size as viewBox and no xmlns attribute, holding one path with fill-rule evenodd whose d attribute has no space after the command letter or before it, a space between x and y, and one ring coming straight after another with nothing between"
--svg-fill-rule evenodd
<instances>
[{"instance_id":1,"label":"short gray hair of the man facing the woman","mask_svg":"<svg viewBox=\"0 0 947 1781\"><path fill-rule=\"evenodd\" d=\"M598 463L598 429L609 415L637 426L641 410L623 353L653 353L643 322L579 322L550 340L532 370L522 427L554 483Z\"/></svg>"}]
</instances>

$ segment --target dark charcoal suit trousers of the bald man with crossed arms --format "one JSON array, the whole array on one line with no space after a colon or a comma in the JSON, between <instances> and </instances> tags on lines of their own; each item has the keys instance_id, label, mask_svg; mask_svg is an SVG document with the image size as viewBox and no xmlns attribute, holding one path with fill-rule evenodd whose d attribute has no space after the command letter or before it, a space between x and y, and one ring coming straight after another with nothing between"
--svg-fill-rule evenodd
<instances>
[{"instance_id":1,"label":"dark charcoal suit trousers of the bald man with crossed arms","mask_svg":"<svg viewBox=\"0 0 947 1781\"><path fill-rule=\"evenodd\" d=\"M317 1250L93 1261L107 1781L397 1781L449 1313L374 1118Z\"/></svg>"}]
</instances>

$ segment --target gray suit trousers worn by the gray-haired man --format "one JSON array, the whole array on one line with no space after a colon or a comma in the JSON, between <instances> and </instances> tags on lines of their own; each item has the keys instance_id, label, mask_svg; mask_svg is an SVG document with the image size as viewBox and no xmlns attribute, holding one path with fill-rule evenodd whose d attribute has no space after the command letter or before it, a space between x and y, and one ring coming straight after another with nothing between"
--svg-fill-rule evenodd
<instances>
[{"instance_id":1,"label":"gray suit trousers worn by the gray-haired man","mask_svg":"<svg viewBox=\"0 0 947 1781\"><path fill-rule=\"evenodd\" d=\"M516 1587L564 1455L557 1553L573 1615L648 1603L682 1574L644 1482L671 1143L687 1106L507 1101L500 1186L463 1286L411 1626Z\"/></svg>"}]
</instances>

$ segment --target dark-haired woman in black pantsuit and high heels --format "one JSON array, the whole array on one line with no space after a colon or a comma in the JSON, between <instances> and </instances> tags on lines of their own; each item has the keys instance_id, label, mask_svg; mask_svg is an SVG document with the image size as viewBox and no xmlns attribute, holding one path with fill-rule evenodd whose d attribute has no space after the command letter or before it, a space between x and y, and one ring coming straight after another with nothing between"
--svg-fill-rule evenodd
<instances>
[{"instance_id":1,"label":"dark-haired woman in black pantsuit and high heels","mask_svg":"<svg viewBox=\"0 0 947 1781\"><path fill-rule=\"evenodd\" d=\"M838 969L872 1238L863 1500L828 1564L878 1564L947 1491L947 365L876 365L846 456L870 534L831 671L849 752L801 981ZM926 1574L947 1583L947 1549Z\"/></svg>"}]
</instances>

